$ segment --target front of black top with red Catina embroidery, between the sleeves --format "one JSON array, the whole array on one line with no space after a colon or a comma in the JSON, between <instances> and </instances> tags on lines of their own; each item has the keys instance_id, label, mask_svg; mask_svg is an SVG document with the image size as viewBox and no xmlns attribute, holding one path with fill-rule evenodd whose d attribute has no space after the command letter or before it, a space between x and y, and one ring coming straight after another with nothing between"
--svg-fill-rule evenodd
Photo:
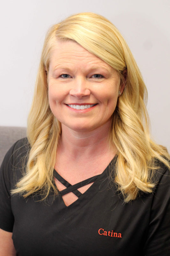
<instances>
[{"instance_id":1,"label":"front of black top with red Catina embroidery, between the sleeves","mask_svg":"<svg viewBox=\"0 0 170 256\"><path fill-rule=\"evenodd\" d=\"M147 236L148 203L122 204L106 180L104 186L101 181L93 185L69 207L61 196L48 197L46 204L13 197L18 255L140 255Z\"/></svg>"}]
</instances>

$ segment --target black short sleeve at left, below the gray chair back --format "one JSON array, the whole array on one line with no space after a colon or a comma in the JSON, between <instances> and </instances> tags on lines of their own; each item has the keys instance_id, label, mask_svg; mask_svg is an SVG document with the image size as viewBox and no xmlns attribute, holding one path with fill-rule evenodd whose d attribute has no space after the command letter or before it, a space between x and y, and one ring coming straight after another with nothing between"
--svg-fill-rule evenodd
<instances>
[{"instance_id":1,"label":"black short sleeve at left, below the gray chair back","mask_svg":"<svg viewBox=\"0 0 170 256\"><path fill-rule=\"evenodd\" d=\"M6 153L0 167L0 228L8 232L12 232L14 224L10 190L13 166L12 157L15 144Z\"/></svg>"}]
</instances>

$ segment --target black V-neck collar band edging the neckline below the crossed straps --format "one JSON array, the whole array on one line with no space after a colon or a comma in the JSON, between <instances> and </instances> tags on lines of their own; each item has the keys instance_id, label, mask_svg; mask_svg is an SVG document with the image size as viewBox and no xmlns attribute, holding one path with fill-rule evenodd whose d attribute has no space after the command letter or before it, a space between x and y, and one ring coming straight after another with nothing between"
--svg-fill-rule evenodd
<instances>
[{"instance_id":1,"label":"black V-neck collar band edging the neckline below the crossed straps","mask_svg":"<svg viewBox=\"0 0 170 256\"><path fill-rule=\"evenodd\" d=\"M92 198L99 191L105 189L105 187L108 185L110 173L109 170L113 170L115 168L115 159L116 156L113 158L113 160L108 164L106 169L101 174L96 175L95 182L81 196L79 196L75 202L73 202L69 206L65 205L61 193L58 193L54 200L54 204L57 208L57 211L60 212L60 215L64 220L68 219L72 214L75 214L75 212L78 212L82 207L88 204L88 202L92 200Z\"/></svg>"}]
</instances>

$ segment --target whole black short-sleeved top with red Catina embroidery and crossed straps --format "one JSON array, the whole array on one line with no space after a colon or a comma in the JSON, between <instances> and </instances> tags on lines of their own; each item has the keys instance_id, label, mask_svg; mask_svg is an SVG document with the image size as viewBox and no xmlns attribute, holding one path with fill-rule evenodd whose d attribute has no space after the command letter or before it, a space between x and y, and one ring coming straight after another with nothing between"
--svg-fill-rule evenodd
<instances>
[{"instance_id":1,"label":"whole black short-sleeved top with red Catina embroidery and crossed straps","mask_svg":"<svg viewBox=\"0 0 170 256\"><path fill-rule=\"evenodd\" d=\"M10 195L22 177L28 147L26 139L17 141L0 170L0 228L13 232L16 255L170 255L170 175L163 164L155 171L154 192L127 204L109 183L114 162L91 181L82 182L83 186L94 181L84 194L77 190L81 184L71 186L54 170L66 193L70 189L78 195L77 201L66 206L64 192L55 199L50 192L45 202L40 202L40 195L26 199Z\"/></svg>"}]
</instances>

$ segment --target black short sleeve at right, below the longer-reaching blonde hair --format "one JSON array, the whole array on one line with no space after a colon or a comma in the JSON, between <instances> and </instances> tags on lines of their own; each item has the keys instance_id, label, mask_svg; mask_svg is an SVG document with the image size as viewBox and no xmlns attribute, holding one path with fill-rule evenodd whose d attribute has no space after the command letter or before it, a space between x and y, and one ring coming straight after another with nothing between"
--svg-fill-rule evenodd
<instances>
[{"instance_id":1,"label":"black short sleeve at right, below the longer-reaching blonde hair","mask_svg":"<svg viewBox=\"0 0 170 256\"><path fill-rule=\"evenodd\" d=\"M160 174L162 172L163 174ZM156 186L152 208L148 236L144 248L146 256L170 255L170 171L164 167L158 170L160 176Z\"/></svg>"}]
</instances>

